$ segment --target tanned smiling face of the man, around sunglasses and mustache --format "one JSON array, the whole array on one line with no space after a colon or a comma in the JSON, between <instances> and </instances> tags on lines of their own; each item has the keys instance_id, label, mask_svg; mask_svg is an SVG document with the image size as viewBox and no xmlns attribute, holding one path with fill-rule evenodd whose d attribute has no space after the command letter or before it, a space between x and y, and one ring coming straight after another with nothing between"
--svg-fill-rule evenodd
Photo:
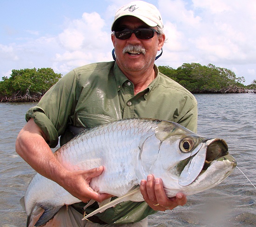
<instances>
[{"instance_id":1,"label":"tanned smiling face of the man, around sunglasses and mustache","mask_svg":"<svg viewBox=\"0 0 256 227\"><path fill-rule=\"evenodd\" d=\"M145 28L149 26L142 20L133 16L124 16L116 26L116 28L129 28L132 30L141 27ZM153 28L156 29L156 27ZM135 33L132 33L131 37L126 40L117 39L113 35L111 36L111 39L115 47L116 62L121 71L126 74L138 71L144 72L148 69L152 69L156 53L161 50L165 36L163 34L161 37L155 33L153 38L143 40L138 39L135 36ZM122 53L123 49L128 45L141 46L145 48L146 53Z\"/></svg>"}]
</instances>

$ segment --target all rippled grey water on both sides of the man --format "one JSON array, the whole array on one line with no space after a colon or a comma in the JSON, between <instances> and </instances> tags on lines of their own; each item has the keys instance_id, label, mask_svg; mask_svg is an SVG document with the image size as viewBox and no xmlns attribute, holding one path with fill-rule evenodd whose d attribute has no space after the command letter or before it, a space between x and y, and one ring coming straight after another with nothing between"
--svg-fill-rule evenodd
<instances>
[{"instance_id":1,"label":"all rippled grey water on both sides of the man","mask_svg":"<svg viewBox=\"0 0 256 227\"><path fill-rule=\"evenodd\" d=\"M196 94L198 134L227 141L237 166L256 185L256 94ZM25 227L19 200L34 171L15 153L33 103L0 103L0 227ZM188 196L184 207L149 216L149 227L256 226L256 188L238 170L219 186Z\"/></svg>"}]
</instances>

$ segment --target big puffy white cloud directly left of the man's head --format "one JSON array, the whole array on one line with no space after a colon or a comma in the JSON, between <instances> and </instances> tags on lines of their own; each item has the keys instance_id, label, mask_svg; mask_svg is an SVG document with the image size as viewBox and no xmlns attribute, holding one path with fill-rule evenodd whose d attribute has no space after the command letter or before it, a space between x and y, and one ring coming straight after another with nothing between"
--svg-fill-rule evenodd
<instances>
[{"instance_id":1,"label":"big puffy white cloud directly left of the man's head","mask_svg":"<svg viewBox=\"0 0 256 227\"><path fill-rule=\"evenodd\" d=\"M83 13L81 19L68 21L58 35L62 48L55 54L53 67L60 72L65 69L67 73L74 67L111 60L111 33L104 29L105 21L95 12Z\"/></svg>"}]
</instances>

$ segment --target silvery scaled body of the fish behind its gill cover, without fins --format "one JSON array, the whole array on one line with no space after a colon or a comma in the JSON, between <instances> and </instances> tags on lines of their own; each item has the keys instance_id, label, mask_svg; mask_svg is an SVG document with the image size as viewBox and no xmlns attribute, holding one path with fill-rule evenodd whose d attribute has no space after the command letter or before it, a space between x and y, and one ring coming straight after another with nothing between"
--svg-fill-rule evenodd
<instances>
[{"instance_id":1,"label":"silvery scaled body of the fish behind its gill cover, without fins","mask_svg":"<svg viewBox=\"0 0 256 227\"><path fill-rule=\"evenodd\" d=\"M90 187L99 193L121 196L139 184L135 163L140 152L140 140L148 131L154 131L154 127L146 120L109 123L107 127L79 134L60 147L55 156L69 171L103 166L103 173L91 180ZM25 194L26 209L46 201L57 205L63 201L64 204L72 204L80 200L54 181L36 174Z\"/></svg>"}]
</instances>

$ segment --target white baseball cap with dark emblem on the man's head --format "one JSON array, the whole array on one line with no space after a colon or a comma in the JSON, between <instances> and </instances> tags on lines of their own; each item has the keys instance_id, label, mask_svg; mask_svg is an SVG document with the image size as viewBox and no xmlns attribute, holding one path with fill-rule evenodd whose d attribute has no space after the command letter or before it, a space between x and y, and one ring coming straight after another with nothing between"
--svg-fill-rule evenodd
<instances>
[{"instance_id":1,"label":"white baseball cap with dark emblem on the man's head","mask_svg":"<svg viewBox=\"0 0 256 227\"><path fill-rule=\"evenodd\" d=\"M163 28L162 16L158 9L154 5L145 1L133 1L117 10L114 22L111 26L112 32L115 29L115 22L123 16L134 16L150 27L158 25Z\"/></svg>"}]
</instances>

